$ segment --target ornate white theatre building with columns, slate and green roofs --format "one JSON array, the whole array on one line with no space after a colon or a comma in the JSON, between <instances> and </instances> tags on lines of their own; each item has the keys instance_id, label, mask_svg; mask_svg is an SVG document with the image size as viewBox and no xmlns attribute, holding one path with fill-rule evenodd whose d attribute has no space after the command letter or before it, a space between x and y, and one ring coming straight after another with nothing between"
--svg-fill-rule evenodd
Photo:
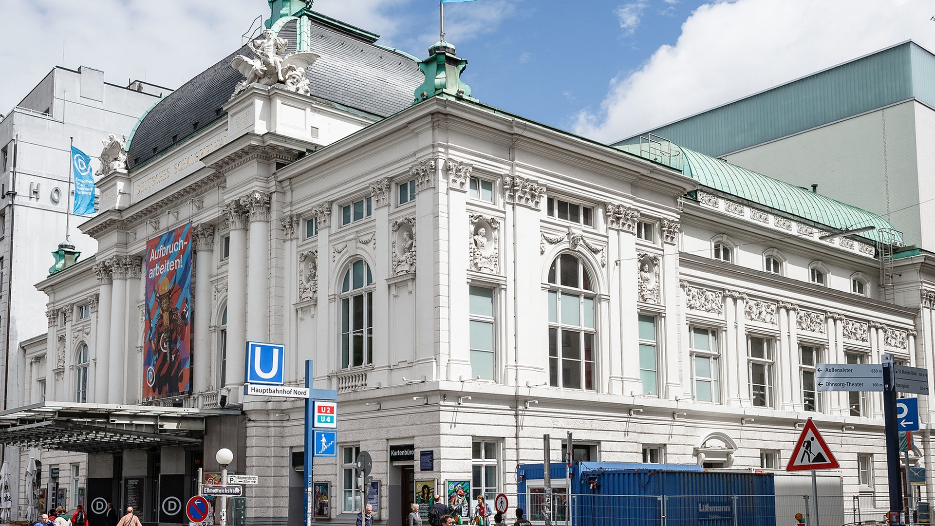
<instances>
[{"instance_id":1,"label":"ornate white theatre building with columns, slate and green roofs","mask_svg":"<svg viewBox=\"0 0 935 526\"><path fill-rule=\"evenodd\" d=\"M248 522L299 523L304 405L243 394L258 341L285 344L287 385L313 359L313 387L338 391L316 520L355 519L359 451L379 522L399 524L424 481L515 492L544 433L556 461L573 431L576 460L774 470L809 417L846 493L888 505L879 395L819 392L814 367L935 356L932 300L879 292L892 225L674 145L651 160L496 110L450 44L420 63L285 7L267 26L319 55L311 96L255 83L227 101L242 80L229 60L181 86L137 124L128 169L99 183L101 212L80 226L97 254L38 285L48 333L21 358L45 402L23 389L0 415L22 465L86 461L89 502L181 522L166 499L184 502L228 447L229 469L262 480L245 489ZM819 239L855 223L876 229ZM169 290L147 292L147 243L186 226L192 301L170 317L190 324L190 383L144 397L145 313ZM913 273L894 289L929 298L928 255L896 265ZM83 304L88 318L59 315ZM930 460L925 435L913 462Z\"/></svg>"}]
</instances>

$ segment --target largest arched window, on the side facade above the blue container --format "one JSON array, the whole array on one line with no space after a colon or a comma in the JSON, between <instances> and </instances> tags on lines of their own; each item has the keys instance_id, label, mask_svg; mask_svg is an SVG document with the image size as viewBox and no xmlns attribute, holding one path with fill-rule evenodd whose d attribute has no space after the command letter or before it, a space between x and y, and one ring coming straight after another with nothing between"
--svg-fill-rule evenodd
<instances>
[{"instance_id":1,"label":"largest arched window, on the side facade above the blue container","mask_svg":"<svg viewBox=\"0 0 935 526\"><path fill-rule=\"evenodd\" d=\"M549 385L595 390L595 296L577 256L555 258L549 269Z\"/></svg>"}]
</instances>

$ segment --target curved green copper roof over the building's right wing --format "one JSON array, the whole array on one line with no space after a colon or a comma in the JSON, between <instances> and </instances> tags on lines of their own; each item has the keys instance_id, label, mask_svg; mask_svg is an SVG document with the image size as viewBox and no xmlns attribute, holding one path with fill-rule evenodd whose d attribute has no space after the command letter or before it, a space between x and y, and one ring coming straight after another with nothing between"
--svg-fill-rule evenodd
<instances>
[{"instance_id":1,"label":"curved green copper roof over the building's right wing","mask_svg":"<svg viewBox=\"0 0 935 526\"><path fill-rule=\"evenodd\" d=\"M861 233L859 236L873 241L888 242L894 241L895 235L895 241L902 241L901 234L883 217L873 212L732 165L704 153L687 148L679 149L684 158L683 174L698 181L702 186L798 216L817 225L830 226L832 231L876 226L875 230Z\"/></svg>"}]
</instances>

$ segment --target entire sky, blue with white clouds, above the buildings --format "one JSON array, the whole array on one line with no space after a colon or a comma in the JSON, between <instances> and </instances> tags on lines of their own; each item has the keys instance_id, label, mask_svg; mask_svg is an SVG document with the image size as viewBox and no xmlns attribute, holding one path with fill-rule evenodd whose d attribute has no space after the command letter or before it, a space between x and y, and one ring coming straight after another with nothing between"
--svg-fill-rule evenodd
<instances>
[{"instance_id":1,"label":"entire sky, blue with white clouds, above the buildings","mask_svg":"<svg viewBox=\"0 0 935 526\"><path fill-rule=\"evenodd\" d=\"M436 0L313 8L420 58L439 38ZM0 1L0 112L56 65L177 87L268 15L265 0ZM930 0L477 0L447 4L445 29L482 102L612 141L909 38L935 50L933 16Z\"/></svg>"}]
</instances>

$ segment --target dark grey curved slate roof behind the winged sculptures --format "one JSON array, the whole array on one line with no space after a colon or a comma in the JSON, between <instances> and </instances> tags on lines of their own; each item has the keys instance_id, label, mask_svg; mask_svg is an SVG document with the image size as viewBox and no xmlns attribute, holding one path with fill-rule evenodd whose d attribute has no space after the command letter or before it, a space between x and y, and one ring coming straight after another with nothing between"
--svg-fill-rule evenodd
<instances>
[{"instance_id":1,"label":"dark grey curved slate roof behind the winged sculptures","mask_svg":"<svg viewBox=\"0 0 935 526\"><path fill-rule=\"evenodd\" d=\"M310 19L310 51L319 55L309 66L310 95L388 117L410 107L424 80L416 61L343 31L337 24ZM279 36L295 51L296 22L287 22ZM174 144L222 118L224 103L243 75L231 66L237 54L253 56L247 46L234 51L156 103L137 123L127 164L132 170Z\"/></svg>"}]
</instances>

